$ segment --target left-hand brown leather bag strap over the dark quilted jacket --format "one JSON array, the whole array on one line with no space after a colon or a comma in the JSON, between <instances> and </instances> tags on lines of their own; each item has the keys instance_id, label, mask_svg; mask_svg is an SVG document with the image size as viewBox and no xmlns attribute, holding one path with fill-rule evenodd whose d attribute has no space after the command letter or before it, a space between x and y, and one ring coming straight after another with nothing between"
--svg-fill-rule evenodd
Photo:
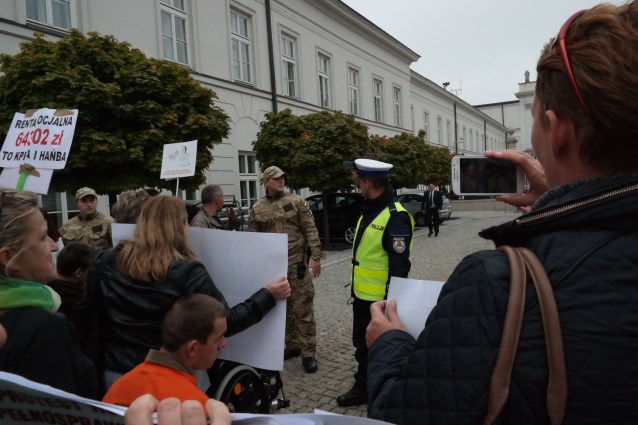
<instances>
[{"instance_id":1,"label":"left-hand brown leather bag strap over the dark quilted jacket","mask_svg":"<svg viewBox=\"0 0 638 425\"><path fill-rule=\"evenodd\" d=\"M483 423L492 424L507 401L512 376L512 366L518 348L521 333L523 311L525 308L525 264L520 253L510 246L497 248L507 256L510 263L510 289L505 310L503 336L496 357L496 366L490 379L490 393L487 402L487 414Z\"/></svg>"}]
</instances>

